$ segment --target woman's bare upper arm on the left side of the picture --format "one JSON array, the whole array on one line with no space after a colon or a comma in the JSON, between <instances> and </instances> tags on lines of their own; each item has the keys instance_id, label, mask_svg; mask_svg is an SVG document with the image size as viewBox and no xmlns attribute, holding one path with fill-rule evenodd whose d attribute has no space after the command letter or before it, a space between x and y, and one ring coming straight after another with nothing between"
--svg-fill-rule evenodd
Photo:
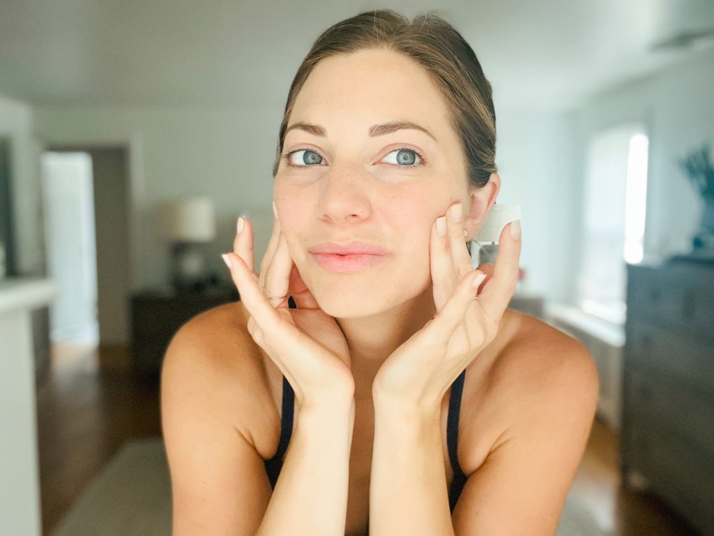
<instances>
[{"instance_id":1,"label":"woman's bare upper arm on the left side of the picture","mask_svg":"<svg viewBox=\"0 0 714 536\"><path fill-rule=\"evenodd\" d=\"M174 536L253 535L271 490L263 459L236 422L231 371L211 359L200 322L181 328L161 371L161 424Z\"/></svg>"}]
</instances>

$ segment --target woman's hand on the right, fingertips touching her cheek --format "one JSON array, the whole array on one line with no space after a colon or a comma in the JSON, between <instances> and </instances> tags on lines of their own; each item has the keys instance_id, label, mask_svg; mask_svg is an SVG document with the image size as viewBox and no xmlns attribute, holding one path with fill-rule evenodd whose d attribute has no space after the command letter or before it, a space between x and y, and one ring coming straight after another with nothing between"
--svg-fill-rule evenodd
<instances>
[{"instance_id":1,"label":"woman's hand on the right, fingertips touching her cheek","mask_svg":"<svg viewBox=\"0 0 714 536\"><path fill-rule=\"evenodd\" d=\"M521 222L511 222L501 231L493 276L484 283L487 271L471 267L461 203L436 219L429 239L436 315L382 364L372 387L376 402L440 406L453 381L496 337L518 284L520 253Z\"/></svg>"}]
</instances>

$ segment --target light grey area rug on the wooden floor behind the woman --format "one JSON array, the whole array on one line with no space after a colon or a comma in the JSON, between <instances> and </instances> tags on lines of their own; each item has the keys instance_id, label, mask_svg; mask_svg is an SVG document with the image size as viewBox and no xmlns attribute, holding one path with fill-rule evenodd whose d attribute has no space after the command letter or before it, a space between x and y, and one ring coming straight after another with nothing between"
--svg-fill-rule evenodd
<instances>
[{"instance_id":1,"label":"light grey area rug on the wooden floor behind the woman","mask_svg":"<svg viewBox=\"0 0 714 536\"><path fill-rule=\"evenodd\" d=\"M161 439L131 440L86 487L52 536L171 536L171 480ZM556 536L608 536L565 502Z\"/></svg>"}]
</instances>

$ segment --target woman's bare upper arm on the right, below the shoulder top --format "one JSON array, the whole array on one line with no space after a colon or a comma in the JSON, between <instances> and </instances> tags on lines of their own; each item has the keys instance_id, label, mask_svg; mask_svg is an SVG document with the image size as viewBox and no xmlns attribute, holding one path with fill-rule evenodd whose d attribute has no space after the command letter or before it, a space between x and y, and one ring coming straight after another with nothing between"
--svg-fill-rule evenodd
<instances>
[{"instance_id":1,"label":"woman's bare upper arm on the right, below the shoulder top","mask_svg":"<svg viewBox=\"0 0 714 536\"><path fill-rule=\"evenodd\" d=\"M546 361L521 391L503 442L468 478L453 512L456 535L555 534L588 441L598 375L573 339Z\"/></svg>"}]
</instances>

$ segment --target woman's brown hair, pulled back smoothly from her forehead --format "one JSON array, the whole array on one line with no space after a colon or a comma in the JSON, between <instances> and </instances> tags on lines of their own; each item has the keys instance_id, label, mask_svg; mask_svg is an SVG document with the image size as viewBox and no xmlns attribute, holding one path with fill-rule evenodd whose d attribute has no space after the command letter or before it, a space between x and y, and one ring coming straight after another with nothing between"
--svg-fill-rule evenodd
<instances>
[{"instance_id":1,"label":"woman's brown hair, pulled back smoothly from her forehead","mask_svg":"<svg viewBox=\"0 0 714 536\"><path fill-rule=\"evenodd\" d=\"M293 79L278 134L273 177L278 172L285 131L295 99L319 61L364 49L386 49L408 56L431 76L446 101L453 129L461 139L472 187L496 172L496 112L491 84L461 34L436 15L411 23L391 10L366 11L338 22L318 37Z\"/></svg>"}]
</instances>

